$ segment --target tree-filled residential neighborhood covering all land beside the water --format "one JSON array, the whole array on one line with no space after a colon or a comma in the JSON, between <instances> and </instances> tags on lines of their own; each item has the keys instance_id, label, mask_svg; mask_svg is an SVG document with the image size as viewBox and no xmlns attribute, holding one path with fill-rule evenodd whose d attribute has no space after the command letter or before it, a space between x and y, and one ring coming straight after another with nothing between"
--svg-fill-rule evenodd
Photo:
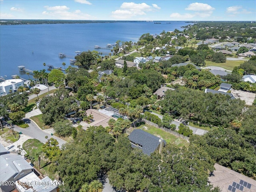
<instances>
[{"instance_id":1,"label":"tree-filled residential neighborhood covering all land beside the water","mask_svg":"<svg viewBox=\"0 0 256 192\"><path fill-rule=\"evenodd\" d=\"M187 23L2 78L1 190L255 191L255 28Z\"/></svg>"}]
</instances>

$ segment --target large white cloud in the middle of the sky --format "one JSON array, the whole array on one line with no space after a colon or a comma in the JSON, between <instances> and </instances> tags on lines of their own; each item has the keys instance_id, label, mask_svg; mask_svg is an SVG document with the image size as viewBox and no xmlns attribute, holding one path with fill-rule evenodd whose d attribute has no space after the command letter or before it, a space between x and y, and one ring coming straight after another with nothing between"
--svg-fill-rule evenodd
<instances>
[{"instance_id":1,"label":"large white cloud in the middle of the sky","mask_svg":"<svg viewBox=\"0 0 256 192\"><path fill-rule=\"evenodd\" d=\"M150 6L146 3L124 2L120 9L111 12L111 16L118 19L129 19L134 16L146 15L146 12L153 12L159 9L161 8L157 4Z\"/></svg>"}]
</instances>

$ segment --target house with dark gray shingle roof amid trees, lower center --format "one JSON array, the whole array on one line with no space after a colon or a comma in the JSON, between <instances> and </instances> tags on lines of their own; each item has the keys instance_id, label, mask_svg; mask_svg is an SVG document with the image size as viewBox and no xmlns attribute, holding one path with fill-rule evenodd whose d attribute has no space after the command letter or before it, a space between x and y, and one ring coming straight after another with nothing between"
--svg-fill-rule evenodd
<instances>
[{"instance_id":1,"label":"house with dark gray shingle roof amid trees, lower center","mask_svg":"<svg viewBox=\"0 0 256 192\"><path fill-rule=\"evenodd\" d=\"M162 153L166 141L141 129L135 129L128 136L132 148L141 149L148 156L153 152Z\"/></svg>"}]
</instances>

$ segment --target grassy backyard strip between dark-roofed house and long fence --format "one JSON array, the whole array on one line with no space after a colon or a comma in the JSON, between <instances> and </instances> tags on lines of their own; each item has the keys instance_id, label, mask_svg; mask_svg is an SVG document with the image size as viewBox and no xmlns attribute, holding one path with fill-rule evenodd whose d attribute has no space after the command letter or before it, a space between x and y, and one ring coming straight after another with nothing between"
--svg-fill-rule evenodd
<instances>
[{"instance_id":1,"label":"grassy backyard strip between dark-roofed house and long fence","mask_svg":"<svg viewBox=\"0 0 256 192\"><path fill-rule=\"evenodd\" d=\"M178 138L168 132L165 132L161 129L158 129L158 128L148 125L148 124L141 125L141 126L137 127L136 129L142 129L150 134L160 136L161 138L166 140L167 143L175 144L179 147L183 147L183 146L188 147L189 146L189 143L186 140L184 140L182 138Z\"/></svg>"}]
</instances>

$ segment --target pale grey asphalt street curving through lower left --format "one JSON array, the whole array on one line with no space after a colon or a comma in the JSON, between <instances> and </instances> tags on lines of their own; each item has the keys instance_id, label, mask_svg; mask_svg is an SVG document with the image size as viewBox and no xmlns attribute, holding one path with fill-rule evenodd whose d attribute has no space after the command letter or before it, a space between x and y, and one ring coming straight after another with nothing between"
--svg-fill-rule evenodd
<instances>
[{"instance_id":1,"label":"pale grey asphalt street curving through lower left","mask_svg":"<svg viewBox=\"0 0 256 192\"><path fill-rule=\"evenodd\" d=\"M51 134L44 132L43 130L41 130L40 128L38 128L38 126L32 122L30 119L25 118L24 122L28 123L28 128L20 128L18 126L14 126L14 130L18 131L18 132L22 132L22 134L25 134L27 136L30 136L34 139L38 139L40 140L40 142L45 143L47 140L45 138L45 136L48 136L49 138L54 138L59 142L59 146L62 146L62 144L65 144L66 141L56 137L56 136L51 136Z\"/></svg>"}]
</instances>

